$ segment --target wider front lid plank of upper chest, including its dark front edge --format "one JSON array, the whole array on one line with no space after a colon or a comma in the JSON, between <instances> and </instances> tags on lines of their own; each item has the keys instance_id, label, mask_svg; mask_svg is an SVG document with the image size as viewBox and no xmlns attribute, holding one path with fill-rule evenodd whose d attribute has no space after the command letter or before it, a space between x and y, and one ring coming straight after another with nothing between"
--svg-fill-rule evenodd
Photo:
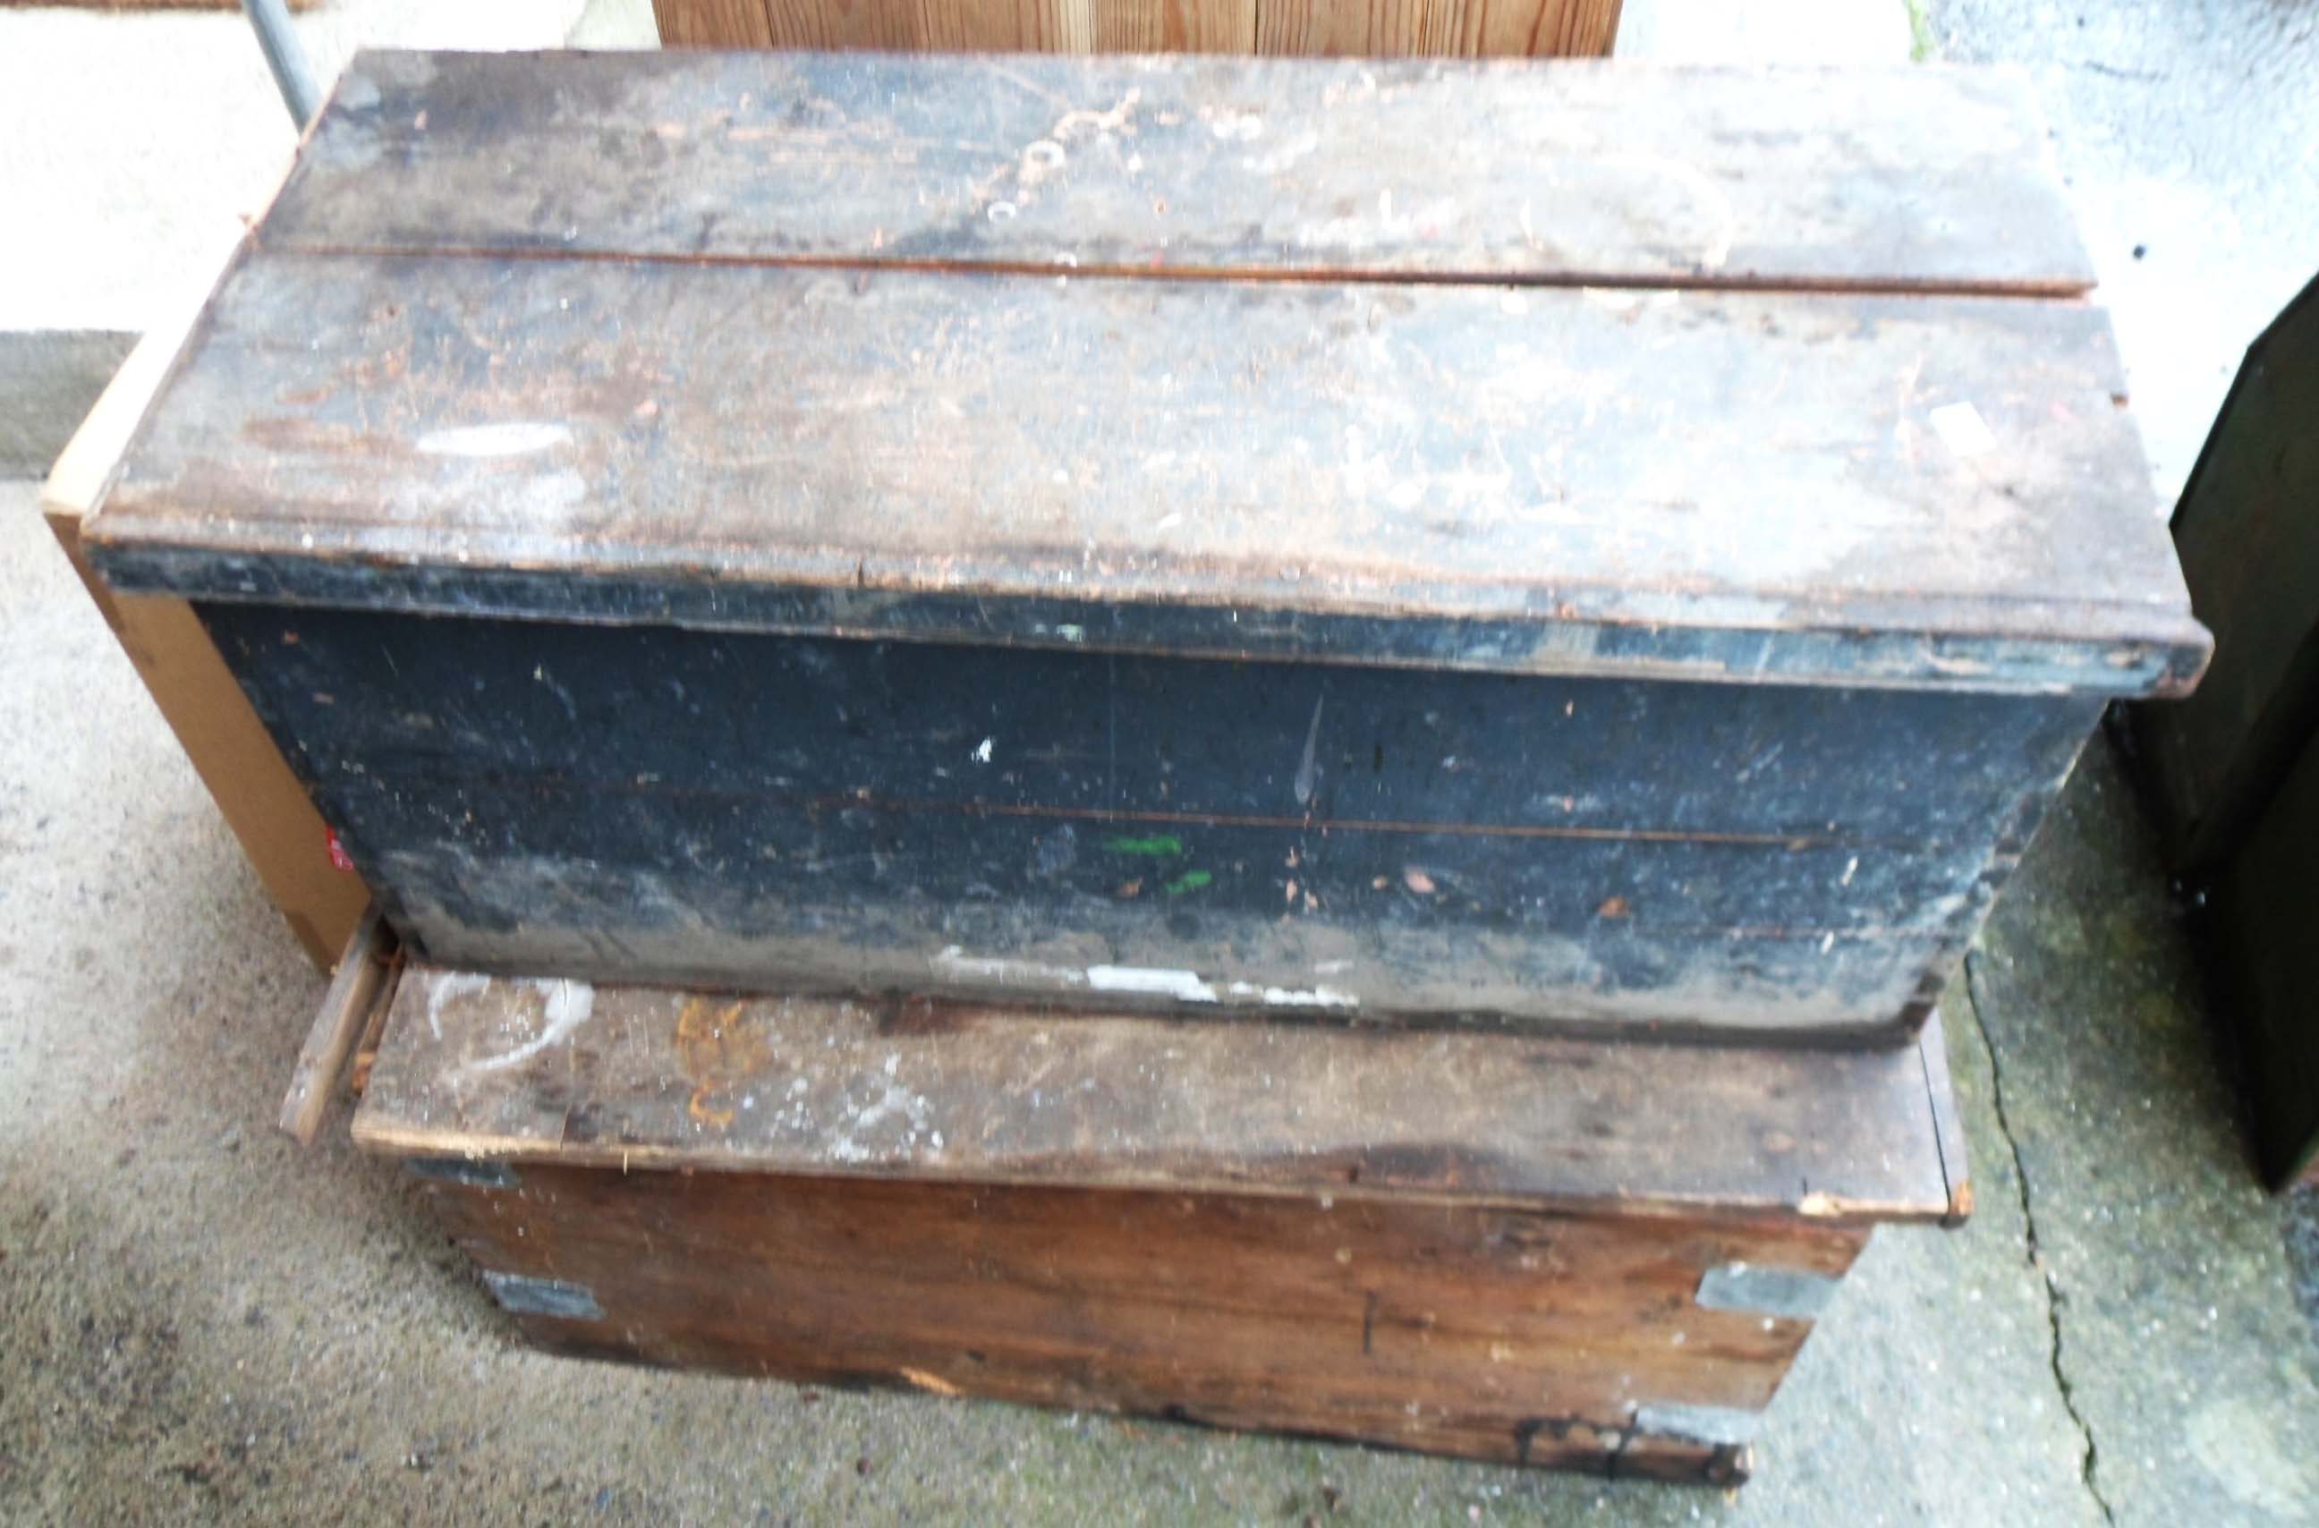
<instances>
[{"instance_id":1,"label":"wider front lid plank of upper chest, including its dark front edge","mask_svg":"<svg viewBox=\"0 0 2319 1528\"><path fill-rule=\"evenodd\" d=\"M88 538L227 598L2171 693L2120 390L2073 304L262 253Z\"/></svg>"}]
</instances>

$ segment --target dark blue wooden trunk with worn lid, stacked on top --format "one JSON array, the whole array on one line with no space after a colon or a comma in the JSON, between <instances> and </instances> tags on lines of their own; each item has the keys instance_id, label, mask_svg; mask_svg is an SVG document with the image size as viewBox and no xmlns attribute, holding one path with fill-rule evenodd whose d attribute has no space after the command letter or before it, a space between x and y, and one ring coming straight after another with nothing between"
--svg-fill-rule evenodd
<instances>
[{"instance_id":1,"label":"dark blue wooden trunk with worn lid, stacked on top","mask_svg":"<svg viewBox=\"0 0 2319 1528\"><path fill-rule=\"evenodd\" d=\"M436 962L1902 1041L2205 656L2085 285L2008 77L373 53L88 543Z\"/></svg>"}]
</instances>

